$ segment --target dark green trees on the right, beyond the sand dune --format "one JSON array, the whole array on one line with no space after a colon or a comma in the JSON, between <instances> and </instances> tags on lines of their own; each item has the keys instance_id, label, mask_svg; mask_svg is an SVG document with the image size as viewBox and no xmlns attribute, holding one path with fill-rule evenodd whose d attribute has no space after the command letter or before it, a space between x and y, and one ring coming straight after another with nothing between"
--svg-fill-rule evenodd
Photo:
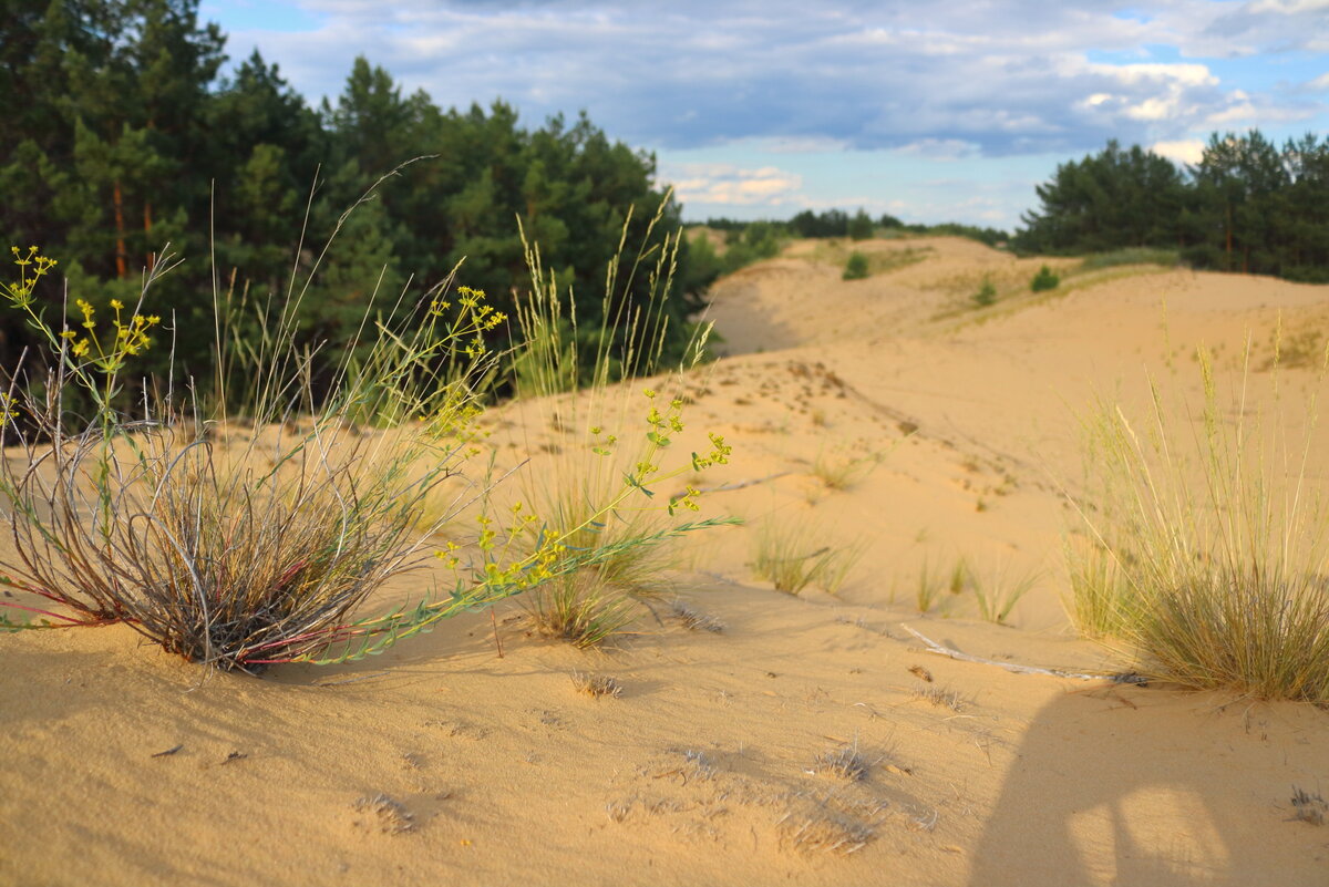
<instances>
[{"instance_id":1,"label":"dark green trees on the right, beyond the sand dune","mask_svg":"<svg viewBox=\"0 0 1329 887\"><path fill-rule=\"evenodd\" d=\"M1196 268L1329 283L1329 137L1278 147L1259 130L1213 133L1185 167L1110 141L1037 194L1021 252L1160 247Z\"/></svg>"}]
</instances>

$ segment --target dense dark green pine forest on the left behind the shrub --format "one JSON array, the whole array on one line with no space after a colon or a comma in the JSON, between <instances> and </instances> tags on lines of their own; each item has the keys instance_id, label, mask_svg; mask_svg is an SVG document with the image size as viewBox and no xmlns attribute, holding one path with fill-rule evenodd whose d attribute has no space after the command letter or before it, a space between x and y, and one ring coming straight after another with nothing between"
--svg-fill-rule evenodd
<instances>
[{"instance_id":1,"label":"dense dark green pine forest on the left behind the shrub","mask_svg":"<svg viewBox=\"0 0 1329 887\"><path fill-rule=\"evenodd\" d=\"M302 337L336 345L371 293L392 304L462 259L457 283L510 315L514 289L529 287L520 219L563 291L590 296L578 320L595 329L630 207L629 260L679 223L680 207L654 185L655 158L585 114L528 127L502 101L443 110L363 57L335 101L311 106L258 52L222 76L226 37L199 20L198 0L0 8L0 238L40 244L60 260L70 301L102 308L133 304L170 243L185 262L149 308L199 376L214 268L219 288L259 303L284 299L292 280L299 291L318 266ZM647 238L662 202L664 224ZM645 287L639 275L621 299ZM43 295L53 316L62 296ZM683 348L696 304L679 278L664 300L667 349ZM4 366L28 344L16 317L0 319Z\"/></svg>"}]
</instances>

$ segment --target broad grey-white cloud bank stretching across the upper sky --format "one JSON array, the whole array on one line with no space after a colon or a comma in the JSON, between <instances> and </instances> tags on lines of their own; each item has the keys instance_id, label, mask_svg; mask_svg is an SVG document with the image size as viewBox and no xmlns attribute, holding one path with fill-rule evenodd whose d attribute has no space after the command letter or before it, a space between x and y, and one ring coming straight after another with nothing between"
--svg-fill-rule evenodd
<instances>
[{"instance_id":1,"label":"broad grey-white cloud bank stretching across the upper sky","mask_svg":"<svg viewBox=\"0 0 1329 887\"><path fill-rule=\"evenodd\" d=\"M944 154L961 145L974 147L957 157L1070 153L1107 138L1176 141L1215 121L1304 118L1312 109L1304 92L1239 96L1243 84L1224 82L1203 60L1329 41L1310 0L1268 9L1146 0L1136 17L1088 0L679 0L667 11L607 0L300 5L318 23L312 31L237 33L231 54L258 42L314 97L336 96L363 53L444 106L502 97L528 123L586 109L634 145L752 139L793 154ZM1185 60L1148 61L1151 45ZM1310 89L1329 89L1322 81L1329 74Z\"/></svg>"}]
</instances>

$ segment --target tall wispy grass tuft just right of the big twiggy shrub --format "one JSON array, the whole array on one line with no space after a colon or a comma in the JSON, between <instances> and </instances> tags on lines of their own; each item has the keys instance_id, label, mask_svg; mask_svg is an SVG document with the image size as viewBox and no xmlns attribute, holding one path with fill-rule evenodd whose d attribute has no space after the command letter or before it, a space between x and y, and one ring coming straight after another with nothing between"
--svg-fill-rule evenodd
<instances>
[{"instance_id":1,"label":"tall wispy grass tuft just right of the big twiggy shrub","mask_svg":"<svg viewBox=\"0 0 1329 887\"><path fill-rule=\"evenodd\" d=\"M657 216L657 222L659 216ZM650 227L647 228L650 231ZM674 242L674 248L678 242ZM634 316L615 317L610 303L619 293L618 266L610 267L603 295L605 317L597 331L578 328L575 312L565 317L557 280L546 274L536 248L528 246L532 291L518 300L521 331L516 363L518 398L534 401L541 425L562 429L570 449L556 455L540 471L528 471L521 483L563 546L563 555L581 559L581 567L560 571L550 582L521 600L536 628L546 637L566 640L577 647L595 647L621 633L641 612L639 600L659 598L668 591L663 575L672 566L671 542L702 527L734 521L684 521L699 510L699 491L691 485L657 506L653 491L637 489L638 479L678 478L683 466L661 474L661 459L674 438L684 432L682 386L676 373L695 366L704 353L707 329L700 329L688 359L658 385L638 389L635 400L626 381L661 370L663 317L654 311L657 301ZM670 250L654 256L649 292L663 297L670 287L675 256ZM637 263L642 262L638 256ZM607 324L625 324L618 331ZM587 335L590 333L590 335ZM630 347L618 348L615 343ZM591 355L581 353L590 345ZM589 376L585 369L589 368ZM556 396L557 394L557 396ZM633 426L642 429L633 433ZM710 436L704 453L692 453L694 473L728 461L730 447L719 436ZM526 450L533 445L525 441ZM625 482L625 478L627 481ZM516 539L518 547L533 550L540 535Z\"/></svg>"}]
</instances>

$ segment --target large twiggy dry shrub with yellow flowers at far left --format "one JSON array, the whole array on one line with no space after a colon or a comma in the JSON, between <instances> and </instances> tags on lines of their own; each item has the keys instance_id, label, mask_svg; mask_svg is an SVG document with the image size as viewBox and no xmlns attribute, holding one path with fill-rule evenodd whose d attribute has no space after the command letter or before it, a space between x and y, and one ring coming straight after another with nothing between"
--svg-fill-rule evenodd
<instances>
[{"instance_id":1,"label":"large twiggy dry shrub with yellow flowers at far left","mask_svg":"<svg viewBox=\"0 0 1329 887\"><path fill-rule=\"evenodd\" d=\"M35 251L28 258L43 268ZM19 264L25 271L23 258ZM230 420L225 385L213 412L190 397L145 392L142 414L126 416L113 404L125 368L153 347L157 323L140 308L170 267L163 256L128 315L110 303L109 331L81 300L78 331L48 327L33 308L40 274L5 287L11 307L51 347L52 368L41 378L19 368L9 378L0 442L27 458L0 466L15 543L0 582L68 612L0 603L33 611L39 625L122 621L187 660L255 671L318 659L339 641L372 652L521 584L502 575L412 615L352 616L428 555L416 513L460 470L456 430L477 409L466 380L493 360L477 337L502 321L482 293L462 288L455 307L431 297L415 335L381 321L388 335L361 351L358 369L342 366L319 405L311 361L290 348L290 305L253 366L260 385L249 421ZM436 361L443 374L425 370ZM89 420L62 409L66 392L92 404ZM296 418L300 409L307 420ZM356 428L392 413L428 420Z\"/></svg>"}]
</instances>

